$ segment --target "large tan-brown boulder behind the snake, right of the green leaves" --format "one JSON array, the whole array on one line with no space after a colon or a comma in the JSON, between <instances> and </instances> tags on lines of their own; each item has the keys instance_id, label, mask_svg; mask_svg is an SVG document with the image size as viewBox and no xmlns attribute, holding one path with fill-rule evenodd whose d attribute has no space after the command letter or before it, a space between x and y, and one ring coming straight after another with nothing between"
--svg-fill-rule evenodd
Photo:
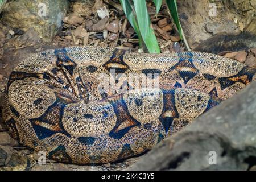
<instances>
[{"instance_id":1,"label":"large tan-brown boulder behind the snake, right of the green leaves","mask_svg":"<svg viewBox=\"0 0 256 182\"><path fill-rule=\"evenodd\" d=\"M181 26L191 48L194 49L213 34L240 33L241 24L246 27L255 19L256 9L251 2L253 1L177 1Z\"/></svg>"}]
</instances>

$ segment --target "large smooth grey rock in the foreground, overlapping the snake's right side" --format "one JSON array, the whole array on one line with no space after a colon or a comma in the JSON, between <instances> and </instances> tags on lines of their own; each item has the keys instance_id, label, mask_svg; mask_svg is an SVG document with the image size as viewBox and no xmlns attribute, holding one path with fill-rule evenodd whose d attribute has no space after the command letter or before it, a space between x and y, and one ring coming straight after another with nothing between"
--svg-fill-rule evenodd
<instances>
[{"instance_id":1,"label":"large smooth grey rock in the foreground, overlapping the snake's right side","mask_svg":"<svg viewBox=\"0 0 256 182\"><path fill-rule=\"evenodd\" d=\"M256 82L164 139L131 170L247 170L256 158ZM216 159L216 160L215 160Z\"/></svg>"}]
</instances>

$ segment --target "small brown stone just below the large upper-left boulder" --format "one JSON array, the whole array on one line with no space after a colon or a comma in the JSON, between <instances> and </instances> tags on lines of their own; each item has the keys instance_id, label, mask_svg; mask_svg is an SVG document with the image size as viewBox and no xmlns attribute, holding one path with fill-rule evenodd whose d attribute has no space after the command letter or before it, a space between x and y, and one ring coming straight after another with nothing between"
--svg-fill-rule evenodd
<instances>
[{"instance_id":1,"label":"small brown stone just below the large upper-left boulder","mask_svg":"<svg viewBox=\"0 0 256 182\"><path fill-rule=\"evenodd\" d=\"M25 34L18 37L19 44L26 44L26 46L35 46L40 43L40 37L34 28L28 28Z\"/></svg>"}]
</instances>

